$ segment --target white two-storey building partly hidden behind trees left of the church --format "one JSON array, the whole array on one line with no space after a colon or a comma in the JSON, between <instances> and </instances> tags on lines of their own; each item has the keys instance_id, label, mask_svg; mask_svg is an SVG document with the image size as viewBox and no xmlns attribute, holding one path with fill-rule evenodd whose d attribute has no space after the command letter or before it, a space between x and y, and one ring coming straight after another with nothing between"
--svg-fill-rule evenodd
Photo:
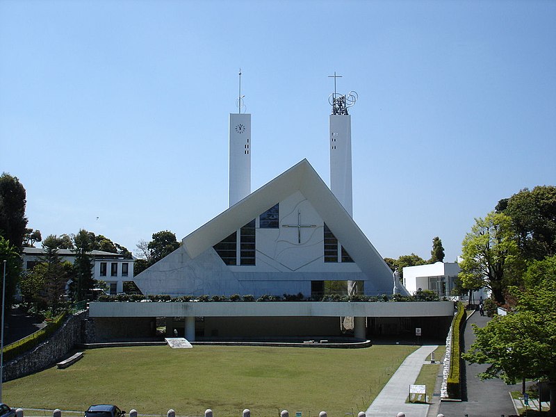
<instances>
[{"instance_id":1,"label":"white two-storey building partly hidden behind trees left of the church","mask_svg":"<svg viewBox=\"0 0 556 417\"><path fill-rule=\"evenodd\" d=\"M23 270L33 269L45 253L41 247L24 247ZM70 263L75 261L75 252L70 249L60 249L58 255L62 261ZM109 294L122 293L124 291L124 281L133 281L133 257L101 250L93 250L89 252L89 255L93 260L93 279L106 282Z\"/></svg>"}]
</instances>

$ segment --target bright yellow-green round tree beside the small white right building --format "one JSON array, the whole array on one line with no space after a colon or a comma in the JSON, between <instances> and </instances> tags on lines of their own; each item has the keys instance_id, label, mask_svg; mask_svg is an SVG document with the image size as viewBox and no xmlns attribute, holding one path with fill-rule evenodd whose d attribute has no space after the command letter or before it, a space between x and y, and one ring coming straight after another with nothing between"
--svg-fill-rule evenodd
<instances>
[{"instance_id":1,"label":"bright yellow-green round tree beside the small white right building","mask_svg":"<svg viewBox=\"0 0 556 417\"><path fill-rule=\"evenodd\" d=\"M489 288L494 300L504 304L506 288L509 284L518 284L523 267L512 232L512 219L494 212L484 219L475 219L471 232L461 243L461 253L459 279L462 286Z\"/></svg>"}]
</instances>

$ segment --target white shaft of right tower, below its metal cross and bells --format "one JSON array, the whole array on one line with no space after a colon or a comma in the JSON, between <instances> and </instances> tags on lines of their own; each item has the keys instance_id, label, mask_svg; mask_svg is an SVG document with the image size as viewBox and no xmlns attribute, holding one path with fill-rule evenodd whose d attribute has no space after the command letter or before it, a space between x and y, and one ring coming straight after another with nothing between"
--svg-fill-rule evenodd
<instances>
[{"instance_id":1,"label":"white shaft of right tower, below its metal cross and bells","mask_svg":"<svg viewBox=\"0 0 556 417\"><path fill-rule=\"evenodd\" d=\"M329 115L330 190L353 217L351 120L350 115Z\"/></svg>"}]
</instances>

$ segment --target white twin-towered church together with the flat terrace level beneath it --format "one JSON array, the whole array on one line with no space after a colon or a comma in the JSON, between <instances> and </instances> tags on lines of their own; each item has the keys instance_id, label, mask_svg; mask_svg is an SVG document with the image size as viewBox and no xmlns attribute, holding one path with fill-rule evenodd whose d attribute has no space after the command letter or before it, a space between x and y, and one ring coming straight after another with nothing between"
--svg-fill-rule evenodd
<instances>
[{"instance_id":1,"label":"white twin-towered church together with the flat terrace level beneath it","mask_svg":"<svg viewBox=\"0 0 556 417\"><path fill-rule=\"evenodd\" d=\"M174 297L302 293L320 300L327 284L341 281L346 295L392 295L393 271L352 218L347 108L356 99L353 92L331 95L330 188L304 159L252 193L251 115L230 114L229 208L134 277L140 291ZM241 104L241 95L238 101ZM401 284L395 292L409 295ZM121 335L133 327L133 319L145 318L143 327L152 329L152 318L165 317L167 332L176 329L190 341L342 336L346 317L352 319L354 336L363 340L370 334L411 334L414 327L428 327L431 335L445 338L443 331L452 314L450 302L97 302L90 306L98 333L107 338L111 332ZM117 332L108 321L115 317L127 320Z\"/></svg>"}]
</instances>

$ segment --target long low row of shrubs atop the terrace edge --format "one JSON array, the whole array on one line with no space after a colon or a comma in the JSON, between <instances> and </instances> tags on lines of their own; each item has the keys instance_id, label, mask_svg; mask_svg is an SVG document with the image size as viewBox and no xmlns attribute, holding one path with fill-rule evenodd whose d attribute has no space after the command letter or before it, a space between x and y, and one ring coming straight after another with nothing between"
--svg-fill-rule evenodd
<instances>
[{"instance_id":1,"label":"long low row of shrubs atop the terrace edge","mask_svg":"<svg viewBox=\"0 0 556 417\"><path fill-rule=\"evenodd\" d=\"M434 291L419 291L416 295L323 295L322 297L304 297L302 293L270 295L265 294L260 297L254 295L233 294L226 295L182 295L181 297L171 297L170 295L145 295L142 294L118 294L100 295L98 301L120 301L120 302L140 302L149 300L152 302L236 302L236 301L333 301L333 302L388 302L388 301L439 301L439 296Z\"/></svg>"}]
</instances>

